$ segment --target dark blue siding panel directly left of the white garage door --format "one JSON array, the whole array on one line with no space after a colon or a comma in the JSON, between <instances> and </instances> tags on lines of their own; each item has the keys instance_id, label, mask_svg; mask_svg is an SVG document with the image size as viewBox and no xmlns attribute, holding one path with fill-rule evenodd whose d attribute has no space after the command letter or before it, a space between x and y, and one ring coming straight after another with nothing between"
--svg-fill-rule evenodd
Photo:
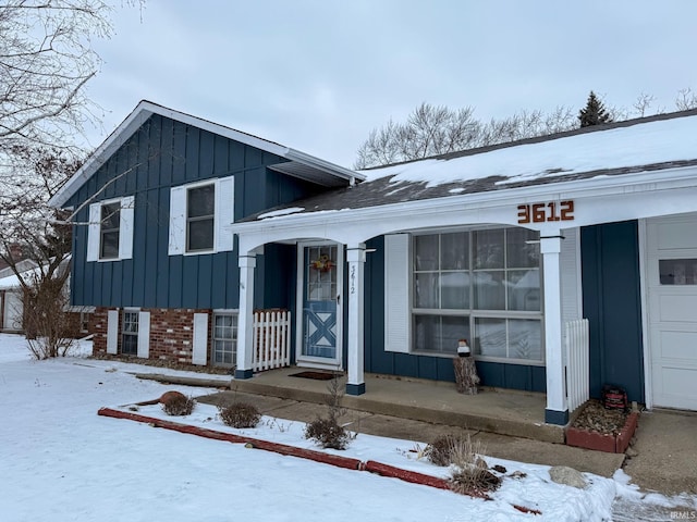
<instances>
[{"instance_id":1,"label":"dark blue siding panel directly left of the white garage door","mask_svg":"<svg viewBox=\"0 0 697 522\"><path fill-rule=\"evenodd\" d=\"M590 335L590 396L622 386L645 402L636 221L582 228L584 316Z\"/></svg>"}]
</instances>

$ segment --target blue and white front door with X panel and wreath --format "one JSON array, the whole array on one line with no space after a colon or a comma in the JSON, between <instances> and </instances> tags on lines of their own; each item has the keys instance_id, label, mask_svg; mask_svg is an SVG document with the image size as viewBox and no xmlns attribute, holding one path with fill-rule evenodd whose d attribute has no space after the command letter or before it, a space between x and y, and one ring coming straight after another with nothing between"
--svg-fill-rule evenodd
<instances>
[{"instance_id":1,"label":"blue and white front door with X panel and wreath","mask_svg":"<svg viewBox=\"0 0 697 522\"><path fill-rule=\"evenodd\" d=\"M297 363L318 368L341 368L341 288L343 251L334 244L298 248L298 297L302 332Z\"/></svg>"}]
</instances>

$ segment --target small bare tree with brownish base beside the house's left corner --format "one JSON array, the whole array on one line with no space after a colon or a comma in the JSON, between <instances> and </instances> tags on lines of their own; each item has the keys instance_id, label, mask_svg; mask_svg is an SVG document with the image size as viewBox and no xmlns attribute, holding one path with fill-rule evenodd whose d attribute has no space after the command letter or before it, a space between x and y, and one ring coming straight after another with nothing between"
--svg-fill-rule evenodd
<instances>
[{"instance_id":1,"label":"small bare tree with brownish base beside the house's left corner","mask_svg":"<svg viewBox=\"0 0 697 522\"><path fill-rule=\"evenodd\" d=\"M45 359L65 355L72 343L65 313L72 227L60 223L65 211L49 209L46 200L81 163L63 149L14 149L21 182L5 183L0 195L0 259L17 277L29 350ZM25 260L28 266L20 264Z\"/></svg>"}]
</instances>

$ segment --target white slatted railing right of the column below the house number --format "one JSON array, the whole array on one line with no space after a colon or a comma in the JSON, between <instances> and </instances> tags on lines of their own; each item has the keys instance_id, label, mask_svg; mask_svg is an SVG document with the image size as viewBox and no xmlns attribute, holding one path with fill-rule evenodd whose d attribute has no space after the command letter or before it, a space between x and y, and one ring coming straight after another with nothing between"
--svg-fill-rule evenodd
<instances>
[{"instance_id":1,"label":"white slatted railing right of the column below the house number","mask_svg":"<svg viewBox=\"0 0 697 522\"><path fill-rule=\"evenodd\" d=\"M588 320L578 319L564 324L566 347L566 399L573 412L590 397Z\"/></svg>"}]
</instances>

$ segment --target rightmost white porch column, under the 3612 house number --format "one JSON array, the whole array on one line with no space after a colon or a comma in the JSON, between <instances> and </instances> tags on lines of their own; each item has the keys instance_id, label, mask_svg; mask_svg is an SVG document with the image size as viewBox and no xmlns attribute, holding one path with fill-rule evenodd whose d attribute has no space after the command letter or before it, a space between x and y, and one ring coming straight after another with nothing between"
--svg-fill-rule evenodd
<instances>
[{"instance_id":1,"label":"rightmost white porch column, under the 3612 house number","mask_svg":"<svg viewBox=\"0 0 697 522\"><path fill-rule=\"evenodd\" d=\"M568 407L564 378L562 340L561 234L540 237L545 272L545 353L547 360L547 409L545 422L566 424Z\"/></svg>"}]
</instances>

